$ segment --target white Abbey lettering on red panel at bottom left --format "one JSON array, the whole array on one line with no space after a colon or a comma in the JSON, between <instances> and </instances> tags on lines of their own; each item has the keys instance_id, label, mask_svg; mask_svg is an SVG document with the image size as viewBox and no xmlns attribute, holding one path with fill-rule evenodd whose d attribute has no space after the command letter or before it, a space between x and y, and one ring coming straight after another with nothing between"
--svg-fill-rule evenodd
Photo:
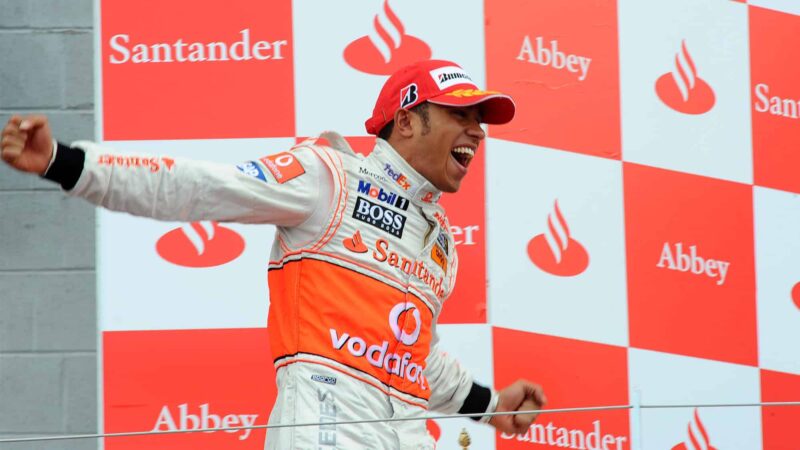
<instances>
[{"instance_id":1,"label":"white Abbey lettering on red panel at bottom left","mask_svg":"<svg viewBox=\"0 0 800 450\"><path fill-rule=\"evenodd\" d=\"M176 416L177 415L177 421ZM164 405L158 414L156 425L153 431L176 431L176 430L202 430L206 428L231 428L231 427L250 427L256 423L258 414L228 414L220 417L209 412L209 404L200 405L198 414L189 414L189 404L181 403L177 411L170 411L170 407ZM239 440L243 441L250 436L251 429L246 430L225 430L226 433L241 433ZM205 431L214 433L214 431Z\"/></svg>"}]
</instances>

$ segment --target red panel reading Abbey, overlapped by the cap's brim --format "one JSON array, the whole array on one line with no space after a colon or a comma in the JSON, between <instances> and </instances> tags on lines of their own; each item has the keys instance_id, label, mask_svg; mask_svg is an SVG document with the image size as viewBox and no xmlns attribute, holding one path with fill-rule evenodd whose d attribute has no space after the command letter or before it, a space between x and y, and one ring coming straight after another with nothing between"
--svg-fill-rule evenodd
<instances>
[{"instance_id":1,"label":"red panel reading Abbey, overlapped by the cap's brim","mask_svg":"<svg viewBox=\"0 0 800 450\"><path fill-rule=\"evenodd\" d=\"M488 89L517 105L491 136L619 159L616 2L486 0L486 23Z\"/></svg>"}]
</instances>

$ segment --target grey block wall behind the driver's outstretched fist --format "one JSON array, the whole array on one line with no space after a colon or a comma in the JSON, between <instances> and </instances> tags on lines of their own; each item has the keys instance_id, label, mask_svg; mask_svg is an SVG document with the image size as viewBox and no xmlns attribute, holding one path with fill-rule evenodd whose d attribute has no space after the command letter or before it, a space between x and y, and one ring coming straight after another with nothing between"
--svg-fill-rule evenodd
<instances>
[{"instance_id":1,"label":"grey block wall behind the driver's outstretched fist","mask_svg":"<svg viewBox=\"0 0 800 450\"><path fill-rule=\"evenodd\" d=\"M94 137L92 27L93 0L0 0L3 126L42 112L62 141ZM0 166L0 438L95 433L94 210Z\"/></svg>"}]
</instances>

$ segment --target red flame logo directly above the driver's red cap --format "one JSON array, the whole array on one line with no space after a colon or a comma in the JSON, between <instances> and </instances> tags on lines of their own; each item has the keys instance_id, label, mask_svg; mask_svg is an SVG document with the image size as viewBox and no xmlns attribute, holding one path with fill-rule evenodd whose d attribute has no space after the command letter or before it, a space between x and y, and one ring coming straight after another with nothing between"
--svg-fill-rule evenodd
<instances>
[{"instance_id":1,"label":"red flame logo directly above the driver's red cap","mask_svg":"<svg viewBox=\"0 0 800 450\"><path fill-rule=\"evenodd\" d=\"M362 36L344 49L350 67L373 75L390 75L415 61L430 59L428 44L406 34L403 22L384 0L383 11L372 21L374 34Z\"/></svg>"}]
</instances>

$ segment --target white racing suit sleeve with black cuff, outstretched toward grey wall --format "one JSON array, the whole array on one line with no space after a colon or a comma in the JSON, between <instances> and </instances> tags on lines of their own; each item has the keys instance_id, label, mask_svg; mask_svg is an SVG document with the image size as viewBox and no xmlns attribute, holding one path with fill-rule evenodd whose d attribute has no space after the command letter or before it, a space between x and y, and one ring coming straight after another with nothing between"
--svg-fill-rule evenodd
<instances>
[{"instance_id":1,"label":"white racing suit sleeve with black cuff, outstretched toward grey wall","mask_svg":"<svg viewBox=\"0 0 800 450\"><path fill-rule=\"evenodd\" d=\"M296 164L290 175L302 173L279 182L276 172L265 164L266 157L234 166L120 155L96 143L78 141L71 146L57 143L44 177L60 183L69 195L136 216L296 226L325 206L319 203L320 179L326 169L307 148L286 155Z\"/></svg>"}]
</instances>

